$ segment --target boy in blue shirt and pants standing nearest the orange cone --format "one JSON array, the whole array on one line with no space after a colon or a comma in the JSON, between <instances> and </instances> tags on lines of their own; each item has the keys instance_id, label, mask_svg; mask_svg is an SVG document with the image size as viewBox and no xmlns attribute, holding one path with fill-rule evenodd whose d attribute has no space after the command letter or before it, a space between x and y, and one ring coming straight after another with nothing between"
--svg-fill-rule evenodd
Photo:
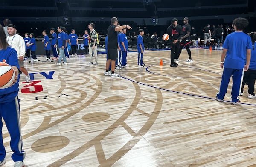
<instances>
[{"instance_id":1,"label":"boy in blue shirt and pants standing nearest the orange cone","mask_svg":"<svg viewBox=\"0 0 256 167\"><path fill-rule=\"evenodd\" d=\"M137 37L137 49L138 49L138 67L144 67L143 63L143 52L144 52L144 44L143 44L143 35L144 30L139 29L140 35Z\"/></svg>"}]
</instances>

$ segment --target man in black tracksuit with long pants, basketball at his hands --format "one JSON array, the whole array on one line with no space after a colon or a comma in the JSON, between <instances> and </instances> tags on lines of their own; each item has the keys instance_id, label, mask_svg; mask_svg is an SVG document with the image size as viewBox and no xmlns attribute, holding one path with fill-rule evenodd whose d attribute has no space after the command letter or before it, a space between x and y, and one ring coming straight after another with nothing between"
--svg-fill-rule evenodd
<instances>
[{"instance_id":1,"label":"man in black tracksuit with long pants, basketball at his hands","mask_svg":"<svg viewBox=\"0 0 256 167\"><path fill-rule=\"evenodd\" d=\"M171 67L177 67L177 63L174 61L178 59L179 48L180 48L180 38L182 37L182 27L178 25L178 20L176 18L172 19L171 25L167 28L166 34L170 37L171 42Z\"/></svg>"}]
</instances>

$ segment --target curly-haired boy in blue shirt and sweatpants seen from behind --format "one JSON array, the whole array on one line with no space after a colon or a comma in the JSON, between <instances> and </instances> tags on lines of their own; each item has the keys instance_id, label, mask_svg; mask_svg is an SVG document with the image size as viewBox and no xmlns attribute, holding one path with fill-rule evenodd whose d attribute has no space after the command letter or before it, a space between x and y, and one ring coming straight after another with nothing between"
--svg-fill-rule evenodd
<instances>
[{"instance_id":1,"label":"curly-haired boy in blue shirt and sweatpants seen from behind","mask_svg":"<svg viewBox=\"0 0 256 167\"><path fill-rule=\"evenodd\" d=\"M218 102L223 102L224 96L227 93L227 87L232 76L233 85L231 91L231 104L241 104L238 96L241 85L243 70L247 71L250 65L252 41L250 37L243 32L243 29L249 24L245 18L236 18L233 20L235 32L229 34L224 42L223 51L221 54L221 68L223 74L219 92L215 99ZM225 58L225 62L224 62Z\"/></svg>"}]
</instances>

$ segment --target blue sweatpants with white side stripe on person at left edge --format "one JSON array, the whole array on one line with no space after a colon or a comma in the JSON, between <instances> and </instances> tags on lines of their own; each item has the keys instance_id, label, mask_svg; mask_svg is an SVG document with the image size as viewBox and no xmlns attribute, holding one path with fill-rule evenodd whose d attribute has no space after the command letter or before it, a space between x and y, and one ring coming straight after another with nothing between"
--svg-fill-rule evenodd
<instances>
[{"instance_id":1,"label":"blue sweatpants with white side stripe on person at left edge","mask_svg":"<svg viewBox=\"0 0 256 167\"><path fill-rule=\"evenodd\" d=\"M12 159L13 161L23 161L23 151L22 151L22 137L20 128L20 105L18 102L18 97L15 97L11 102L0 103L0 161L6 156L6 150L3 145L3 122L2 118L6 124L9 131L11 141L10 147L13 151Z\"/></svg>"}]
</instances>

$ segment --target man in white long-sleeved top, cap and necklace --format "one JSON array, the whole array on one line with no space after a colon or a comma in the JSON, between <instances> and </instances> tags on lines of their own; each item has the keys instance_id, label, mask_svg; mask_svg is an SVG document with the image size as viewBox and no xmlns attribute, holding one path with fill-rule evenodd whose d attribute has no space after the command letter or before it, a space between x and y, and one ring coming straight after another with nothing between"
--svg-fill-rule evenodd
<instances>
[{"instance_id":1,"label":"man in white long-sleeved top, cap and necklace","mask_svg":"<svg viewBox=\"0 0 256 167\"><path fill-rule=\"evenodd\" d=\"M9 34L6 37L8 44L17 51L20 71L26 75L26 82L30 82L30 76L24 67L24 55L26 53L24 39L19 34L16 34L16 27L13 24L7 26L7 33Z\"/></svg>"}]
</instances>

